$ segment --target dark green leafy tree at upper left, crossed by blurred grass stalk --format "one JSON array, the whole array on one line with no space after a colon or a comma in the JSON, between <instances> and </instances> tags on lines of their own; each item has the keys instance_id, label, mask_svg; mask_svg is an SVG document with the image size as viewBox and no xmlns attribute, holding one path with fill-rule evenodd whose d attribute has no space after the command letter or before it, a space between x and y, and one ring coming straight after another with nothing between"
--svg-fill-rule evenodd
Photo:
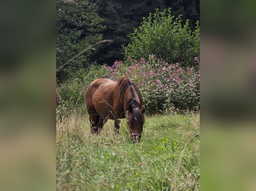
<instances>
[{"instance_id":1,"label":"dark green leafy tree at upper left, crossed by blurred grass stalk","mask_svg":"<svg viewBox=\"0 0 256 191\"><path fill-rule=\"evenodd\" d=\"M96 11L97 5L89 0L76 0L75 3L56 0L56 68L101 40L100 32L104 27ZM90 50L85 52L57 72L57 81L80 77L90 64L90 54Z\"/></svg>"}]
</instances>

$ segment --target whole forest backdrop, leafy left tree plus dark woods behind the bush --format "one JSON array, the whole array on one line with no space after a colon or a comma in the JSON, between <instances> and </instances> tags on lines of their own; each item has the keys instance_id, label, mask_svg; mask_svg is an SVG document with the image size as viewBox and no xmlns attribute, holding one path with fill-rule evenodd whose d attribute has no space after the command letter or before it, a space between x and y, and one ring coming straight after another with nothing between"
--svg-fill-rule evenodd
<instances>
[{"instance_id":1,"label":"whole forest backdrop, leafy left tree plus dark woods behind the bush","mask_svg":"<svg viewBox=\"0 0 256 191\"><path fill-rule=\"evenodd\" d=\"M56 69L83 50L79 57L56 72L57 84L81 78L98 65L112 66L124 59L123 47L150 13L171 8L181 24L189 20L193 32L200 20L199 0L56 0ZM109 39L112 42L95 43ZM198 55L197 55L198 56Z\"/></svg>"}]
</instances>

